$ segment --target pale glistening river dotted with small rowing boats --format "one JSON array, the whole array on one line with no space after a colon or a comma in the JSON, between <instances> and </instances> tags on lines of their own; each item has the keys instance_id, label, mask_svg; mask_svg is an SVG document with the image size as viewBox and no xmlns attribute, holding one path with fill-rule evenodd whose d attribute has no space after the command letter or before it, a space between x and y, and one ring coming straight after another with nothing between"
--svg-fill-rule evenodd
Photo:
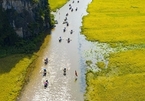
<instances>
[{"instance_id":1,"label":"pale glistening river dotted with small rowing boats","mask_svg":"<svg viewBox=\"0 0 145 101\"><path fill-rule=\"evenodd\" d=\"M36 68L18 101L84 101L86 85L82 44L85 40L80 35L80 26L90 2L91 0L79 0L79 2L70 0L54 13L58 24L48 36L50 39L48 45L39 56ZM66 18L69 26L63 24ZM63 32L64 28L66 28L65 32ZM70 34L71 30L73 30L72 34ZM61 42L58 41L59 37L62 38ZM69 43L68 38L70 38ZM45 58L49 60L47 65L44 64ZM41 72L43 68L48 72L45 77ZM63 75L64 68L66 68L66 76ZM78 73L76 81L75 70ZM46 89L44 89L45 80L49 81Z\"/></svg>"}]
</instances>

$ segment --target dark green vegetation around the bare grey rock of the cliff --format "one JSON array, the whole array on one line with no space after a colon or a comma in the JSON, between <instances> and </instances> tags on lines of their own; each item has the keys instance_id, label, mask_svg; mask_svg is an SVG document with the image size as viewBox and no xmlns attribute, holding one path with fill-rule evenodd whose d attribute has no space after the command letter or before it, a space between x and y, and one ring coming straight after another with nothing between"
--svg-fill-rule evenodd
<instances>
[{"instance_id":1,"label":"dark green vegetation around the bare grey rock of the cliff","mask_svg":"<svg viewBox=\"0 0 145 101\"><path fill-rule=\"evenodd\" d=\"M36 22L31 22L27 25L27 30L30 32L30 35L24 35L23 38L20 38L15 33L9 22L12 17L10 16L11 12L15 14L14 17L19 16L18 13L14 9L4 11L2 8L0 8L0 57L5 57L10 54L32 54L33 52L38 51L44 37L46 36L46 33L42 32L48 28L47 23L52 22L50 20L50 8L48 6L47 0L45 4L47 6L35 9L35 11L37 11L35 12ZM24 13L26 12L24 11ZM44 23L46 24L46 28L42 28ZM49 27L52 27L51 23Z\"/></svg>"}]
</instances>

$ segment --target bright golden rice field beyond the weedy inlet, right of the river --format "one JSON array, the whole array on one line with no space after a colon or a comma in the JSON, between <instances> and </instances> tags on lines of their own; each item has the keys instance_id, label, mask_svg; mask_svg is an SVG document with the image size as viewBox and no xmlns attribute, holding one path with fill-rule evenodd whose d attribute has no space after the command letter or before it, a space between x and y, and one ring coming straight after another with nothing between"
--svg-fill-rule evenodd
<instances>
[{"instance_id":1,"label":"bright golden rice field beyond the weedy inlet, right of the river","mask_svg":"<svg viewBox=\"0 0 145 101\"><path fill-rule=\"evenodd\" d=\"M100 42L145 43L144 0L93 0L82 33Z\"/></svg>"}]
</instances>

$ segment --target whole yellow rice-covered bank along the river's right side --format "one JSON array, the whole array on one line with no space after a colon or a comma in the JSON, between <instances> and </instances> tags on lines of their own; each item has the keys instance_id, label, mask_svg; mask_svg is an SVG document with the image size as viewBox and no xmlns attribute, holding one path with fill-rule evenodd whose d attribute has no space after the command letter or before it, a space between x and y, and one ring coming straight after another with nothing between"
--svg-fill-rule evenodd
<instances>
[{"instance_id":1,"label":"whole yellow rice-covered bank along the river's right side","mask_svg":"<svg viewBox=\"0 0 145 101\"><path fill-rule=\"evenodd\" d=\"M84 17L82 33L90 41L124 51L111 53L108 66L86 74L86 101L145 100L145 1L93 0ZM121 45L121 47L119 46Z\"/></svg>"}]
</instances>

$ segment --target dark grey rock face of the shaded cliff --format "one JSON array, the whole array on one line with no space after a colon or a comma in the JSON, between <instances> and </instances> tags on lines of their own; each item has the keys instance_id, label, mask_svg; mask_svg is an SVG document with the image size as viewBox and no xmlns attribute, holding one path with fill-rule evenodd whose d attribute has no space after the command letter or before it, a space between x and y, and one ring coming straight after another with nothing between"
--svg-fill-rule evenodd
<instances>
[{"instance_id":1,"label":"dark grey rock face of the shaded cliff","mask_svg":"<svg viewBox=\"0 0 145 101\"><path fill-rule=\"evenodd\" d=\"M35 36L51 28L48 0L2 0L0 6L20 37Z\"/></svg>"}]
</instances>

